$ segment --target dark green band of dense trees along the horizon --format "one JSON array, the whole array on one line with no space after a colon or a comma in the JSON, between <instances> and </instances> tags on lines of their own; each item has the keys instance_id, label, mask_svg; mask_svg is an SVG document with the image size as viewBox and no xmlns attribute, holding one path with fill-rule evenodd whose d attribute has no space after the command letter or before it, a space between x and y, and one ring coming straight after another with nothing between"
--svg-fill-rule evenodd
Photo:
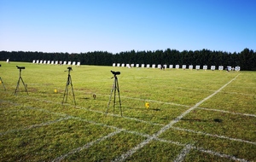
<instances>
[{"instance_id":1,"label":"dark green band of dense trees along the horizon","mask_svg":"<svg viewBox=\"0 0 256 162\"><path fill-rule=\"evenodd\" d=\"M200 65L241 67L241 70L256 70L256 52L243 49L240 53L229 53L208 49L183 50L176 49L154 51L125 51L112 54L107 51L95 51L80 54L44 53L30 51L0 51L0 60L6 61L80 61L81 65L112 66L113 63L125 64L166 64L166 65Z\"/></svg>"}]
</instances>

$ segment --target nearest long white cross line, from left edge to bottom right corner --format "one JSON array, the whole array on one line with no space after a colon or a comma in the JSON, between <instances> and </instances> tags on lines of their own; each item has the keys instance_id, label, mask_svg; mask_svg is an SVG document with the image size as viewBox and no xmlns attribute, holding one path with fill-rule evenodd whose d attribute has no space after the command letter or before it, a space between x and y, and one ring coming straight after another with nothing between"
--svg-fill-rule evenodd
<instances>
[{"instance_id":1,"label":"nearest long white cross line, from left edge to bottom right corner","mask_svg":"<svg viewBox=\"0 0 256 162\"><path fill-rule=\"evenodd\" d=\"M16 106L19 106L19 104L16 104L14 102L10 102L8 101L10 104L14 104ZM34 109L34 110L38 110L38 111L43 111L45 113L52 113L52 114L56 114L56 115L60 115L60 116L66 116L66 117L69 117L70 119L77 119L79 121L84 121L84 122L87 122L87 123L90 123L90 124L96 124L96 125L100 125L100 126L103 126L103 127L108 127L108 128L112 128L114 130L117 130L117 131L123 131L125 133L130 133L132 135L137 135L137 136L143 136L143 137L146 137L146 138L149 138L151 137L150 135L147 135L147 134L143 134L143 133L139 133L137 131L131 131L131 130L125 130L125 129L120 129L120 128L117 128L115 126L112 126L112 125L107 125L107 124L100 124L100 123L96 123L94 121L90 121L90 120L87 120L87 119L81 119L79 117L73 117L73 116L69 116L65 113L55 113L55 112L50 112L49 110L45 110L45 109L41 109L41 108L36 108L36 107L27 107L29 109ZM171 144L174 144L174 145L177 145L177 146L181 146L181 147L185 147L187 146L188 144L183 144L183 143L180 143L180 142L172 142L172 141L168 141L168 140L165 140L165 139L160 139L158 137L155 137L154 140L156 141L159 141L159 142L166 142L166 143L171 143ZM212 154L212 155L216 155L216 156L219 156L219 157L224 157L224 158L229 158L229 159L235 159L235 160L238 160L238 161L247 161L247 160L240 160L240 159L237 159L236 157L234 156L230 156L230 155L227 155L227 154L223 154L223 153L216 153L216 152L212 152L211 150L205 150L204 148L195 148L195 147L192 147L193 149L196 149L196 150L199 150L203 153L209 153L209 154ZM67 156L66 156L67 157Z\"/></svg>"}]
</instances>

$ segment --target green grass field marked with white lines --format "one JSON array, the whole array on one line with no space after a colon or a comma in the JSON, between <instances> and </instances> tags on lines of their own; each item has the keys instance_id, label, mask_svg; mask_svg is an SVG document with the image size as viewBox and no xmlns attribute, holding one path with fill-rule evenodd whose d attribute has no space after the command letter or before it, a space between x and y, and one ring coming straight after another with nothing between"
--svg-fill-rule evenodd
<instances>
[{"instance_id":1,"label":"green grass field marked with white lines","mask_svg":"<svg viewBox=\"0 0 256 162\"><path fill-rule=\"evenodd\" d=\"M1 161L256 161L256 72L0 64Z\"/></svg>"}]
</instances>

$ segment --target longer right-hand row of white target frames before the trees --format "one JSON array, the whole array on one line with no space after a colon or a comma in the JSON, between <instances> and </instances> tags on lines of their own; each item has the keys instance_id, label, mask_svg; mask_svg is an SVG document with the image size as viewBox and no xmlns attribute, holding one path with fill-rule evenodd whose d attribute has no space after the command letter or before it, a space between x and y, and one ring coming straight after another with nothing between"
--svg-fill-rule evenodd
<instances>
[{"instance_id":1,"label":"longer right-hand row of white target frames before the trees","mask_svg":"<svg viewBox=\"0 0 256 162\"><path fill-rule=\"evenodd\" d=\"M139 68L139 67L142 67L142 68L144 68L144 67L146 67L146 68L150 68L150 64L147 64L147 65L145 65L145 64L125 64L125 63L123 63L123 64L120 64L120 63L113 63L113 67L128 67L128 68L131 68L131 67L137 67L137 68ZM176 69L179 69L179 68L182 68L183 70L185 70L185 69L187 69L187 67L189 67L189 69L190 70L192 70L192 69L194 69L194 66L193 65L189 65L189 66L187 66L187 65L183 65L183 66L179 66L179 65L175 65L175 67L174 67L174 65L169 65L169 68L170 69L172 69L172 68L176 68ZM152 66L151 66L151 68L160 68L160 69L162 69L162 68L167 68L167 65L165 64L165 65L160 65L160 64L158 64L157 66L155 65L155 64L153 64ZM199 66L199 65L197 65L197 66L195 66L195 69L196 70L200 70L201 69L201 66ZM208 66L202 66L202 69L203 70L207 70L208 69ZM211 66L211 68L210 68L211 70L216 70L216 66ZM227 71L240 71L241 70L241 67L230 67L230 66L227 66L226 68L224 68L224 66L218 66L218 70L227 70Z\"/></svg>"}]
</instances>

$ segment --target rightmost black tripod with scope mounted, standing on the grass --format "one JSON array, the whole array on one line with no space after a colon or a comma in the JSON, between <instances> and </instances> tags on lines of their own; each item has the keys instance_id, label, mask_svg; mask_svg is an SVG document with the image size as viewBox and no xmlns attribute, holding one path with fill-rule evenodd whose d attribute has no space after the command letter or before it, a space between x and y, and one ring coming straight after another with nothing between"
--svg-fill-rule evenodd
<instances>
[{"instance_id":1,"label":"rightmost black tripod with scope mounted, standing on the grass","mask_svg":"<svg viewBox=\"0 0 256 162\"><path fill-rule=\"evenodd\" d=\"M118 78L117 78L116 75L119 75L120 72L113 72L113 71L111 71L111 72L113 73L113 78L114 78L114 80L113 80L113 88L112 88L111 94L110 94L110 96L109 96L108 108L109 108L109 104L110 104L110 101L111 101L112 94L114 93L114 95L113 95L113 113L114 113L116 90L117 90L118 93L119 93L119 81L118 81ZM113 92L113 91L114 91L114 92ZM123 116L122 107L121 107L120 93L119 93L119 108L120 108L121 116ZM108 109L107 109L107 112L106 112L106 113L108 113Z\"/></svg>"}]
</instances>

